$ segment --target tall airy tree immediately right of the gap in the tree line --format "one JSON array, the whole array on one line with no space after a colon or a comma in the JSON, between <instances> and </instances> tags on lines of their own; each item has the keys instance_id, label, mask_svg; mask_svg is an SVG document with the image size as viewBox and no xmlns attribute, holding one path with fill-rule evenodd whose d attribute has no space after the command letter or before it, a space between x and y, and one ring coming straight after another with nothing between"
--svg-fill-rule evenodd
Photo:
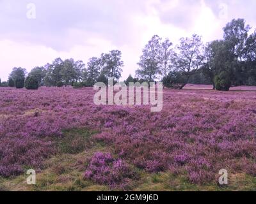
<instances>
[{"instance_id":1,"label":"tall airy tree immediately right of the gap in the tree line","mask_svg":"<svg viewBox=\"0 0 256 204\"><path fill-rule=\"evenodd\" d=\"M143 54L138 62L140 68L136 70L136 75L152 82L161 74L161 64L161 38L155 35L143 48Z\"/></svg>"}]
</instances>

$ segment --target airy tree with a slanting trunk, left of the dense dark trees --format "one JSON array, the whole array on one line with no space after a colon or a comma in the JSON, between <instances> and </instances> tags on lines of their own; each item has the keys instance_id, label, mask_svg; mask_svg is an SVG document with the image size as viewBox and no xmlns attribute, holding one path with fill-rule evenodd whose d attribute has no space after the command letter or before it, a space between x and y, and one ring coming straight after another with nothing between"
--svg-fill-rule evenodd
<instances>
[{"instance_id":1,"label":"airy tree with a slanting trunk, left of the dense dark trees","mask_svg":"<svg viewBox=\"0 0 256 204\"><path fill-rule=\"evenodd\" d=\"M173 54L173 69L180 73L182 82L179 89L188 84L189 78L202 65L204 60L201 37L193 34L192 38L181 38L176 52Z\"/></svg>"}]
</instances>

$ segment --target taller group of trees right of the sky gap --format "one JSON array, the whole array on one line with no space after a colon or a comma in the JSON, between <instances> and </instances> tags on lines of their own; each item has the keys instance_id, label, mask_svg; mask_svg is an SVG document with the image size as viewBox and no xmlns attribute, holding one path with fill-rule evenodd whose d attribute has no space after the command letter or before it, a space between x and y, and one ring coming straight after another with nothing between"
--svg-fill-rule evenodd
<instances>
[{"instance_id":1,"label":"taller group of trees right of the sky gap","mask_svg":"<svg viewBox=\"0 0 256 204\"><path fill-rule=\"evenodd\" d=\"M143 49L136 71L138 78L154 81L161 77L165 87L182 89L186 84L212 84L228 91L231 86L256 85L256 31L244 19L232 20L224 28L223 40L204 45L201 37L170 40L153 36Z\"/></svg>"}]
</instances>

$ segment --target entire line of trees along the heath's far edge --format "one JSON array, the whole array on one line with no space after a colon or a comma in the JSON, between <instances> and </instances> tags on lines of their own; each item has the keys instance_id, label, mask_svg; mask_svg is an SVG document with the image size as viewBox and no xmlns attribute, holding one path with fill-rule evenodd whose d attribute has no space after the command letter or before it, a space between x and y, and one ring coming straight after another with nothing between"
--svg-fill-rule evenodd
<instances>
[{"instance_id":1,"label":"entire line of trees along the heath's far edge","mask_svg":"<svg viewBox=\"0 0 256 204\"><path fill-rule=\"evenodd\" d=\"M223 39L202 43L201 36L180 38L178 45L155 35L143 48L136 78L129 82L156 82L182 89L186 84L212 84L213 89L228 91L231 86L256 85L256 31L244 19L234 19L223 28ZM58 58L51 64L36 67L30 73L13 68L8 82L2 85L37 89L40 85L73 87L93 86L96 82L117 82L122 75L122 52L111 50L100 57L83 61ZM27 77L26 77L27 76Z\"/></svg>"}]
</instances>

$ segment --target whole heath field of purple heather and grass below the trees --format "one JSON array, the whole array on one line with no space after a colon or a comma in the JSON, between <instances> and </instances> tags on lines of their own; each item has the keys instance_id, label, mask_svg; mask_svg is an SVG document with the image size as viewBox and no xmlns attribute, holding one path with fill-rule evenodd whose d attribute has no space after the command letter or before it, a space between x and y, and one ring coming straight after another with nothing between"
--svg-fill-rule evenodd
<instances>
[{"instance_id":1,"label":"whole heath field of purple heather and grass below the trees","mask_svg":"<svg viewBox=\"0 0 256 204\"><path fill-rule=\"evenodd\" d=\"M97 106L92 88L1 87L0 189L256 190L256 89L186 88L164 89L154 113ZM35 186L26 184L31 168Z\"/></svg>"}]
</instances>

